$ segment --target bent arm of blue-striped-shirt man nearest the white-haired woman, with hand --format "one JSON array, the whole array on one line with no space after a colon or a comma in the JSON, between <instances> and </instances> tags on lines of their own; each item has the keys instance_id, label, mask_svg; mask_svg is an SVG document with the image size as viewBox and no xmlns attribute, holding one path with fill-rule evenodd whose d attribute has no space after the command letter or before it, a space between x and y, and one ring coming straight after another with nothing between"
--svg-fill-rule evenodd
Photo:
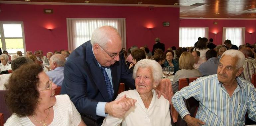
<instances>
[{"instance_id":1,"label":"bent arm of blue-striped-shirt man nearest the white-haired woman, with hand","mask_svg":"<svg viewBox=\"0 0 256 126\"><path fill-rule=\"evenodd\" d=\"M200 124L204 124L204 122L190 116L183 98L189 99L190 97L194 97L196 100L200 100L200 91L200 83L198 83L198 81L194 81L190 83L188 87L176 92L176 94L172 97L173 106L189 126L199 126Z\"/></svg>"}]
</instances>

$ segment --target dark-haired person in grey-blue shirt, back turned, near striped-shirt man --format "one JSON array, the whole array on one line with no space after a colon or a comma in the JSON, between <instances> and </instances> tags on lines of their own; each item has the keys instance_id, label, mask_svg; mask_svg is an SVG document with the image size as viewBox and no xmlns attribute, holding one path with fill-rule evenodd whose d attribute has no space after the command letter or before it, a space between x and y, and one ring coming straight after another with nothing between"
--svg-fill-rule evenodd
<instances>
[{"instance_id":1,"label":"dark-haired person in grey-blue shirt, back turned, near striped-shirt man","mask_svg":"<svg viewBox=\"0 0 256 126\"><path fill-rule=\"evenodd\" d=\"M198 68L202 76L217 74L217 69L219 64L219 60L217 58L217 52L213 49L210 49L205 53L205 57L207 61L202 63Z\"/></svg>"}]
</instances>

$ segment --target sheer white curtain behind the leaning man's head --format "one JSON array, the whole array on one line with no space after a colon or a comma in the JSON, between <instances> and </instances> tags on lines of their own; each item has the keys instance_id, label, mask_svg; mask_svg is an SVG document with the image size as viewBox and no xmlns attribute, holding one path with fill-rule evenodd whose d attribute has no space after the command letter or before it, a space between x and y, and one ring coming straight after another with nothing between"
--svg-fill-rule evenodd
<instances>
[{"instance_id":1,"label":"sheer white curtain behind the leaning man's head","mask_svg":"<svg viewBox=\"0 0 256 126\"><path fill-rule=\"evenodd\" d=\"M67 18L68 50L74 50L84 42L91 39L92 32L101 26L116 28L122 38L122 47L126 48L125 18Z\"/></svg>"}]
</instances>

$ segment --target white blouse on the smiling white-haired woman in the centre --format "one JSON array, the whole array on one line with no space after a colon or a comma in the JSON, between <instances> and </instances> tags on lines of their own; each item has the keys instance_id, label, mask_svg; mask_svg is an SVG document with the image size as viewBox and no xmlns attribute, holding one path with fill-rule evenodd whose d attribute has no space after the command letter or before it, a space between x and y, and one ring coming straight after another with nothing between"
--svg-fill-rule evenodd
<instances>
[{"instance_id":1,"label":"white blouse on the smiling white-haired woman in the centre","mask_svg":"<svg viewBox=\"0 0 256 126\"><path fill-rule=\"evenodd\" d=\"M161 96L157 98L153 90L153 98L147 109L136 90L129 90L120 93L116 99L126 95L136 99L135 106L131 107L122 118L107 115L101 126L171 126L171 116L169 111L169 101Z\"/></svg>"}]
</instances>

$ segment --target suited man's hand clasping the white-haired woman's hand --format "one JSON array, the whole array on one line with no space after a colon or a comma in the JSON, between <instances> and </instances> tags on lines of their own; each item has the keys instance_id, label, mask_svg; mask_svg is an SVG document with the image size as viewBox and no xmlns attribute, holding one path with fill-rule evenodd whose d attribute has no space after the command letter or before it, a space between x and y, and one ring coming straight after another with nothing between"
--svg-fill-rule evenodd
<instances>
[{"instance_id":1,"label":"suited man's hand clasping the white-haired woman's hand","mask_svg":"<svg viewBox=\"0 0 256 126\"><path fill-rule=\"evenodd\" d=\"M128 98L126 95L120 97L117 100L106 103L105 113L114 117L123 117L126 111L128 111L137 100Z\"/></svg>"}]
</instances>

